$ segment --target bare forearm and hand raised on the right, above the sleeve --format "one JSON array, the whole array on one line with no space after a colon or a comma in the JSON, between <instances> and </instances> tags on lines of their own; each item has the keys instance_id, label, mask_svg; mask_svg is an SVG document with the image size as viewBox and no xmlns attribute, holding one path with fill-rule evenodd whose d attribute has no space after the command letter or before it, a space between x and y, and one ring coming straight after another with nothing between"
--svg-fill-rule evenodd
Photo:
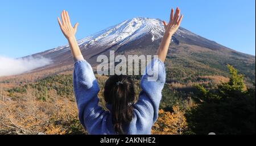
<instances>
[{"instance_id":1,"label":"bare forearm and hand raised on the right, above the sleeve","mask_svg":"<svg viewBox=\"0 0 256 146\"><path fill-rule=\"evenodd\" d=\"M165 21L163 21L164 29L166 30L166 32L164 32L162 43L160 44L158 52L156 53L156 55L158 55L158 59L163 62L166 60L172 35L174 35L174 33L180 27L182 18L183 15L180 16L180 9L177 7L175 15L174 9L171 10L170 22L167 24Z\"/></svg>"}]
</instances>

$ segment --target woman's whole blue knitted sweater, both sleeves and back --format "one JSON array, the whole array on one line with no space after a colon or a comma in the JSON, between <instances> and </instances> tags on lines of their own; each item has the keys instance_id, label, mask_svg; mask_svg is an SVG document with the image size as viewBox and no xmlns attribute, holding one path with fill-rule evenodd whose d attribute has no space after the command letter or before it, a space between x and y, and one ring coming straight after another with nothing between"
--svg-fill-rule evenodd
<instances>
[{"instance_id":1,"label":"woman's whole blue knitted sweater, both sleeves and back","mask_svg":"<svg viewBox=\"0 0 256 146\"><path fill-rule=\"evenodd\" d=\"M156 81L149 81L147 70L158 74ZM151 128L158 118L158 109L162 98L162 89L166 81L166 70L159 59L153 59L147 65L141 80L142 91L134 104L133 119L123 126L129 135L150 135ZM111 106L105 111L98 106L97 97L100 88L92 67L85 60L75 62L73 88L82 126L92 135L114 135Z\"/></svg>"}]
</instances>

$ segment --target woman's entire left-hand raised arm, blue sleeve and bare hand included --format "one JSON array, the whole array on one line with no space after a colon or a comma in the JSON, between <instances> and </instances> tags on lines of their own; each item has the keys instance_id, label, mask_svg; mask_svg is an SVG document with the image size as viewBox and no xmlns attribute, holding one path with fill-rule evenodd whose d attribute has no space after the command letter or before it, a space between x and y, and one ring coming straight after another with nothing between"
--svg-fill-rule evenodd
<instances>
[{"instance_id":1,"label":"woman's entire left-hand raised arm, blue sleeve and bare hand included","mask_svg":"<svg viewBox=\"0 0 256 146\"><path fill-rule=\"evenodd\" d=\"M73 90L79 110L80 123L89 134L102 134L104 132L102 127L104 126L106 112L98 106L99 98L97 95L100 87L98 87L92 66L82 57L76 41L75 34L78 23L75 24L75 27L72 27L68 12L65 10L61 13L61 19L62 23L60 18L58 18L61 31L67 38L72 55L76 61L73 72Z\"/></svg>"}]
</instances>

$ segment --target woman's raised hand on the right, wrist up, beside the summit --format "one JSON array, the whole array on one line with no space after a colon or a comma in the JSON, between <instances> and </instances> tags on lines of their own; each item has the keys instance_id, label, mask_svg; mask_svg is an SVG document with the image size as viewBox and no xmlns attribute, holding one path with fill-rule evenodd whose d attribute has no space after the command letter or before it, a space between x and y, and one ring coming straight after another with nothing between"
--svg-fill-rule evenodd
<instances>
[{"instance_id":1,"label":"woman's raised hand on the right, wrist up, beside the summit","mask_svg":"<svg viewBox=\"0 0 256 146\"><path fill-rule=\"evenodd\" d=\"M183 15L180 16L179 7L176 8L175 14L174 14L174 9L172 9L171 15L170 15L170 22L167 24L165 21L163 21L164 29L166 30L166 32L170 33L171 35L174 35L174 33L180 27L182 18L183 18Z\"/></svg>"}]
</instances>

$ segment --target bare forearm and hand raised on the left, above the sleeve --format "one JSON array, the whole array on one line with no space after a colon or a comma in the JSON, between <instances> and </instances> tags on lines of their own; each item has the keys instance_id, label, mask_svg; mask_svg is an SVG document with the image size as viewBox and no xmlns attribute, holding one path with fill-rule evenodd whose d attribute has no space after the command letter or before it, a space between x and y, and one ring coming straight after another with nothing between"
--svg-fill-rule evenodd
<instances>
[{"instance_id":1,"label":"bare forearm and hand raised on the left, above the sleeve","mask_svg":"<svg viewBox=\"0 0 256 146\"><path fill-rule=\"evenodd\" d=\"M68 12L65 10L61 12L61 19L62 19L62 23L60 18L58 18L58 22L60 24L61 31L63 32L64 36L68 40L73 58L75 60L83 60L84 58L82 57L82 53L79 49L79 45L77 44L76 36L75 36L77 31L77 26L79 25L79 23L76 23L75 26L72 27Z\"/></svg>"}]
</instances>

